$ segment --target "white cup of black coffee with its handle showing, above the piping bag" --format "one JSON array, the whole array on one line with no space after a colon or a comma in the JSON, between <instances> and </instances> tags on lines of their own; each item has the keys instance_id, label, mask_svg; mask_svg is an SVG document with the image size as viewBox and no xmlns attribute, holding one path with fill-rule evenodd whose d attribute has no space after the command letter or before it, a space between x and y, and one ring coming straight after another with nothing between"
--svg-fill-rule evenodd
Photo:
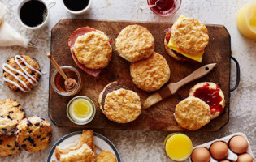
<instances>
[{"instance_id":1,"label":"white cup of black coffee with its handle showing, above the piping bag","mask_svg":"<svg viewBox=\"0 0 256 162\"><path fill-rule=\"evenodd\" d=\"M37 29L46 25L49 11L55 2L46 5L42 0L23 0L17 9L17 17L24 28Z\"/></svg>"}]
</instances>

